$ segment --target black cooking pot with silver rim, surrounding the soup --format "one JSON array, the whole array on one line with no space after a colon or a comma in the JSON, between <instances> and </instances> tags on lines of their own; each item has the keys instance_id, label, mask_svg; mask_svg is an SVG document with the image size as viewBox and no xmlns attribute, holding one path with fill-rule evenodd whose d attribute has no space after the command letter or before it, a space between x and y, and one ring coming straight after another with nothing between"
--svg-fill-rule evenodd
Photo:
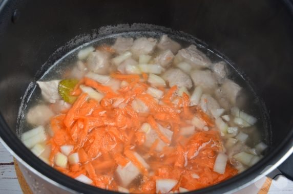
<instances>
[{"instance_id":1,"label":"black cooking pot with silver rim, surrounding the soup","mask_svg":"<svg viewBox=\"0 0 293 194\"><path fill-rule=\"evenodd\" d=\"M226 56L254 83L271 123L262 132L269 150L260 162L232 179L193 193L236 191L252 184L293 152L292 8L289 0L4 0L0 3L2 142L21 163L35 193L113 193L62 175L19 141L17 117L22 96L58 58L84 42L124 31L171 28L172 33L195 36L205 47ZM119 24L135 25L117 27ZM114 27L101 28L107 25Z\"/></svg>"}]
</instances>

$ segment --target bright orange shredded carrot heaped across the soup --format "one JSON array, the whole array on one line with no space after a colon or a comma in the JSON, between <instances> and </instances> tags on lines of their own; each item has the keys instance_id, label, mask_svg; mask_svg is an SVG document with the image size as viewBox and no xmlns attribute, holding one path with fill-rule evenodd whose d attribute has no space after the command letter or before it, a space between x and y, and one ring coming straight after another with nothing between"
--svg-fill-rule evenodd
<instances>
[{"instance_id":1,"label":"bright orange shredded carrot heaped across the soup","mask_svg":"<svg viewBox=\"0 0 293 194\"><path fill-rule=\"evenodd\" d=\"M113 53L108 46L98 50ZM71 93L77 100L70 109L51 118L53 136L47 141L51 145L48 158L51 166L72 178L86 175L94 186L117 190L121 184L121 180L116 180L117 166L127 169L131 162L142 178L140 185L133 183L127 187L136 193L155 193L157 179L176 179L178 183L172 191L177 192L179 187L199 189L237 174L229 163L223 175L213 171L217 153L223 152L218 131L195 131L183 136L181 127L190 126L194 116L210 129L215 123L214 118L199 106L191 106L186 93L182 97L176 95L176 85L157 87L163 92L163 97L158 100L147 93L149 87L154 87L147 82L148 74L116 72L110 76L127 81L127 87L113 89L83 77ZM103 98L99 101L91 99L80 90L81 84L103 93ZM133 100L147 109L141 112L133 105ZM143 124L150 128L142 128ZM66 168L54 165L54 157L63 145L73 145L71 154L78 154L77 164L68 163ZM200 178L194 179L193 174Z\"/></svg>"}]
</instances>

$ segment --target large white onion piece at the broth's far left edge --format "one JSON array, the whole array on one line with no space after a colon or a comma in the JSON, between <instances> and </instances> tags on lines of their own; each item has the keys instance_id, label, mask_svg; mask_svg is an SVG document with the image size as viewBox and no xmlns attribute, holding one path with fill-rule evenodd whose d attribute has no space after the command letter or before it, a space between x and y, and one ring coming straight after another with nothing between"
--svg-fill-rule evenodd
<instances>
[{"instance_id":1,"label":"large white onion piece at the broth's far left edge","mask_svg":"<svg viewBox=\"0 0 293 194\"><path fill-rule=\"evenodd\" d=\"M35 144L44 142L47 136L44 126L38 126L22 135L22 142L26 147L32 148Z\"/></svg>"}]
</instances>

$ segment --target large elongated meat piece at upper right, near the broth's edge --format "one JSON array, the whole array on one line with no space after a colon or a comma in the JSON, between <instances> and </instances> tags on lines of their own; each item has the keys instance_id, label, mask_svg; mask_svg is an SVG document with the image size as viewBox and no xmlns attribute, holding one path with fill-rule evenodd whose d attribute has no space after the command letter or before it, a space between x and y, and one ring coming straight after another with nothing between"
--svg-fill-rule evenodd
<instances>
[{"instance_id":1,"label":"large elongated meat piece at upper right, near the broth's edge","mask_svg":"<svg viewBox=\"0 0 293 194\"><path fill-rule=\"evenodd\" d=\"M197 68L208 67L211 64L211 60L204 53L197 50L195 45L179 50L175 58L178 62L185 61Z\"/></svg>"}]
</instances>

